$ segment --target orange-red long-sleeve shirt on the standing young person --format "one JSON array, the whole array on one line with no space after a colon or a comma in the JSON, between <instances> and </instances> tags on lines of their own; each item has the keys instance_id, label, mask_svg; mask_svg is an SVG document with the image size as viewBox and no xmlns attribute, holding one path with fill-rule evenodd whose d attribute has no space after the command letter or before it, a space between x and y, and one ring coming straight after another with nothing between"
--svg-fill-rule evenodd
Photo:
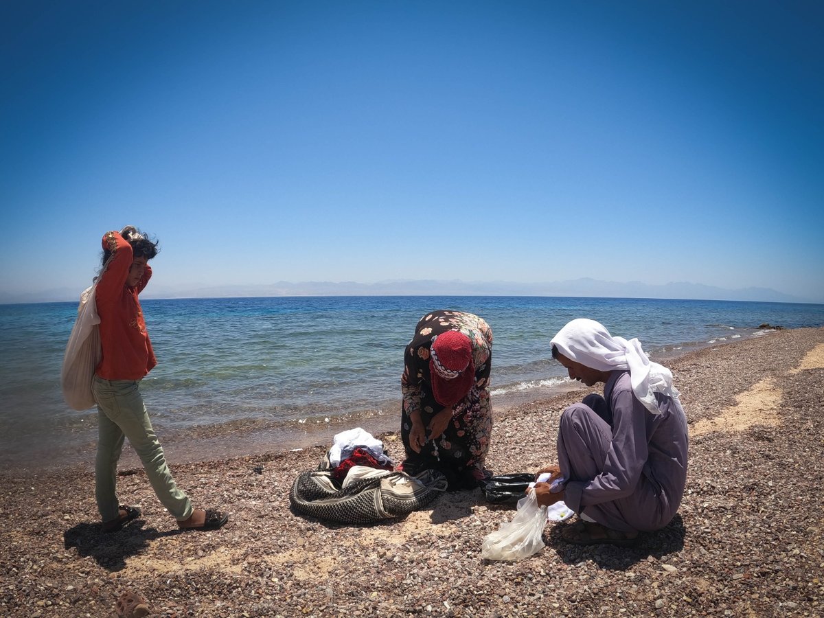
<instances>
[{"instance_id":1,"label":"orange-red long-sleeve shirt on the standing young person","mask_svg":"<svg viewBox=\"0 0 824 618\"><path fill-rule=\"evenodd\" d=\"M126 285L132 266L132 246L119 232L103 236L103 248L111 250L108 267L97 283L97 315L101 318L100 333L103 359L96 374L104 380L140 380L157 365L152 342L143 320L138 294L152 277L146 265L137 285Z\"/></svg>"}]
</instances>

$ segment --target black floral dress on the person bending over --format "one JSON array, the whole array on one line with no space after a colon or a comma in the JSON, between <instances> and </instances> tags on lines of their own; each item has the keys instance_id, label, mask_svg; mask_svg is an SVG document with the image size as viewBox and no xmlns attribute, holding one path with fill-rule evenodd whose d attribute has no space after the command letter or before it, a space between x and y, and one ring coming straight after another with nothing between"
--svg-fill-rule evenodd
<instances>
[{"instance_id":1,"label":"black floral dress on the person bending over","mask_svg":"<svg viewBox=\"0 0 824 618\"><path fill-rule=\"evenodd\" d=\"M475 363L475 384L453 408L452 420L434 441L428 441L419 453L410 447L410 414L420 412L427 427L435 414L443 410L432 392L429 355L432 339L448 330L458 330L469 337ZM492 363L492 329L479 316L463 311L433 311L422 317L414 337L406 346L404 374L400 379L403 393L400 437L406 460L403 470L409 474L436 469L452 476L457 485L472 485L485 476L484 461L492 433L492 405L489 398L489 371Z\"/></svg>"}]
</instances>

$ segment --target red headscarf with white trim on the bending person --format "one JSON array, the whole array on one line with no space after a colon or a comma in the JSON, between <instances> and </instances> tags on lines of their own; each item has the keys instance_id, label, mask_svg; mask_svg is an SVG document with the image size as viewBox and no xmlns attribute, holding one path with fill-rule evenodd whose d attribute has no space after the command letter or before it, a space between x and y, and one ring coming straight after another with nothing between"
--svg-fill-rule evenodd
<instances>
[{"instance_id":1,"label":"red headscarf with white trim on the bending person","mask_svg":"<svg viewBox=\"0 0 824 618\"><path fill-rule=\"evenodd\" d=\"M475 382L471 341L457 330L448 330L433 338L430 351L432 394L440 405L452 407L466 397Z\"/></svg>"}]
</instances>

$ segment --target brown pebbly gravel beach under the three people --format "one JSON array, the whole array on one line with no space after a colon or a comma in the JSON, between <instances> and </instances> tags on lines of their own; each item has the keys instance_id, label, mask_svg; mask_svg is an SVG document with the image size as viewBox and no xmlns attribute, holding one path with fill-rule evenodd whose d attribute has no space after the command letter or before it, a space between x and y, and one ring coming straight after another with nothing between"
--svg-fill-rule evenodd
<instances>
[{"instance_id":1,"label":"brown pebbly gravel beach under the three people","mask_svg":"<svg viewBox=\"0 0 824 618\"><path fill-rule=\"evenodd\" d=\"M633 549L569 545L550 524L541 553L486 562L484 536L514 511L480 489L372 526L299 517L289 489L325 444L173 465L196 505L232 513L206 533L177 531L142 469L118 479L142 517L105 536L91 471L3 471L0 615L116 616L125 591L151 616L824 615L824 328L667 364L691 428L687 489ZM554 463L559 415L589 391L496 411L489 470ZM398 434L380 438L400 459Z\"/></svg>"}]
</instances>

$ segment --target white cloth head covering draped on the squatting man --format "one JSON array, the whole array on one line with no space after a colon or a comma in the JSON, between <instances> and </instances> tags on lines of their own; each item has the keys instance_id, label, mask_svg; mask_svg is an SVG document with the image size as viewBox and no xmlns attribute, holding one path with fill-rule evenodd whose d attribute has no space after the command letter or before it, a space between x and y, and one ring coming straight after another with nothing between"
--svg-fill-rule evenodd
<instances>
[{"instance_id":1,"label":"white cloth head covering draped on the squatting man","mask_svg":"<svg viewBox=\"0 0 824 618\"><path fill-rule=\"evenodd\" d=\"M632 391L653 414L661 414L655 393L678 400L678 390L672 386L672 372L650 361L638 339L627 341L613 337L600 322L586 318L573 320L558 331L550 344L569 360L585 367L602 372L629 371Z\"/></svg>"}]
</instances>

